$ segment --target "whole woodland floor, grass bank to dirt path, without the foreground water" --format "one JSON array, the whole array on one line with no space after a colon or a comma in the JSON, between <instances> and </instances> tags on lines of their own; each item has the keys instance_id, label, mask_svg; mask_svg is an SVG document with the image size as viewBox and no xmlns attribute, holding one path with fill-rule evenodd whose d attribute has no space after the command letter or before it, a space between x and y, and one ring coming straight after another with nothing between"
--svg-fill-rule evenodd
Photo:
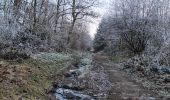
<instances>
[{"instance_id":1,"label":"whole woodland floor, grass bank to dirt path, without the foreground water","mask_svg":"<svg viewBox=\"0 0 170 100\"><path fill-rule=\"evenodd\" d=\"M100 100L158 99L103 53L43 53L21 62L1 59L0 75L0 100L48 100L58 83Z\"/></svg>"}]
</instances>

